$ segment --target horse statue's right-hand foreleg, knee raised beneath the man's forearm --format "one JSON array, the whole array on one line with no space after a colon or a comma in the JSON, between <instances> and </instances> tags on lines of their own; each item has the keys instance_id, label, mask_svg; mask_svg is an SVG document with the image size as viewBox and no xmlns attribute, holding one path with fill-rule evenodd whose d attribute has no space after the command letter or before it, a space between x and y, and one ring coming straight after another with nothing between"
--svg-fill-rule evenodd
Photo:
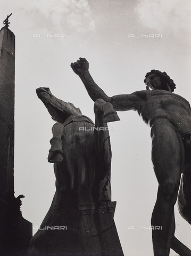
<instances>
[{"instance_id":1,"label":"horse statue's right-hand foreleg, knee raised beneath the man's forearm","mask_svg":"<svg viewBox=\"0 0 191 256\"><path fill-rule=\"evenodd\" d=\"M99 159L94 182L95 197L97 201L107 202L111 201L111 145L106 122L118 121L119 117L112 104L103 99L95 101L94 113L94 148Z\"/></svg>"}]
</instances>

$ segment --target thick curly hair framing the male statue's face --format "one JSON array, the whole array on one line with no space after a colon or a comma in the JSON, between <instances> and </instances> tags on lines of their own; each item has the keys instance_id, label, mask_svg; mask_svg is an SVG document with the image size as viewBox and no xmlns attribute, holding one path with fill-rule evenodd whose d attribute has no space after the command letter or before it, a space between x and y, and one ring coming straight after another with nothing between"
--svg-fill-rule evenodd
<instances>
[{"instance_id":1,"label":"thick curly hair framing the male statue's face","mask_svg":"<svg viewBox=\"0 0 191 256\"><path fill-rule=\"evenodd\" d=\"M161 85L164 88L166 88L167 84L169 84L171 92L173 92L176 89L176 84L173 82L170 76L167 75L167 73L152 69L151 72L148 72L145 77L147 78L148 75L151 75L151 74L155 74L161 78ZM144 79L145 84L146 84L146 78ZM146 90L147 91L150 90L147 84L146 84Z\"/></svg>"}]
</instances>

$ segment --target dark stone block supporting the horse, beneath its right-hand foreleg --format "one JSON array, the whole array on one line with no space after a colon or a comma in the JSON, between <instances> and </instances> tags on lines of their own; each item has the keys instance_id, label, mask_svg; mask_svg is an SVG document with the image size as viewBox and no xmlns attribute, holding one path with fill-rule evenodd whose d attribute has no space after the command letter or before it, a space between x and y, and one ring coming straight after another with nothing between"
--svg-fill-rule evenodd
<instances>
[{"instance_id":1,"label":"dark stone block supporting the horse, beneath its right-hand foreleg","mask_svg":"<svg viewBox=\"0 0 191 256\"><path fill-rule=\"evenodd\" d=\"M123 256L114 222L116 202L82 205L79 207L78 227L84 252L88 256Z\"/></svg>"}]
</instances>

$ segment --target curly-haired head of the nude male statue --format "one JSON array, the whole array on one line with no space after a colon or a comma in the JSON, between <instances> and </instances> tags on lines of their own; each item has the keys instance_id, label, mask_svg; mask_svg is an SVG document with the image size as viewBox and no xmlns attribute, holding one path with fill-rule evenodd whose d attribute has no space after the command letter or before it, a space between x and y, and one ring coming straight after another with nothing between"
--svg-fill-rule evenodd
<instances>
[{"instance_id":1,"label":"curly-haired head of the nude male statue","mask_svg":"<svg viewBox=\"0 0 191 256\"><path fill-rule=\"evenodd\" d=\"M176 89L176 85L170 76L165 72L161 72L159 70L151 70L151 72L147 73L144 79L146 84L146 90L166 90L173 92Z\"/></svg>"}]
</instances>

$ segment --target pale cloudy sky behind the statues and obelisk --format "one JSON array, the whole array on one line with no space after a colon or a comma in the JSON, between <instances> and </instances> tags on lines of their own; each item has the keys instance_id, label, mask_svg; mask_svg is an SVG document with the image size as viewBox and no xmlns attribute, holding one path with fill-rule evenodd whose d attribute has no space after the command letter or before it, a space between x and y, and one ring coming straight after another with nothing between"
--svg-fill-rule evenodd
<instances>
[{"instance_id":1,"label":"pale cloudy sky behind the statues and obelisk","mask_svg":"<svg viewBox=\"0 0 191 256\"><path fill-rule=\"evenodd\" d=\"M36 89L49 87L57 98L72 102L94 119L93 101L70 68L71 62L84 57L107 95L144 90L145 74L159 69L174 80L175 92L191 102L190 7L189 0L7 0L1 4L2 22L13 13L10 29L16 37L15 195L25 195L22 214L34 226L45 217L55 192L53 165L47 162L54 122ZM48 34L53 37L47 38ZM121 121L110 123L114 220L124 255L148 256L153 254L151 230L129 227L151 225L157 181L150 128L134 111L118 114ZM190 246L191 228L175 209L176 236Z\"/></svg>"}]
</instances>

